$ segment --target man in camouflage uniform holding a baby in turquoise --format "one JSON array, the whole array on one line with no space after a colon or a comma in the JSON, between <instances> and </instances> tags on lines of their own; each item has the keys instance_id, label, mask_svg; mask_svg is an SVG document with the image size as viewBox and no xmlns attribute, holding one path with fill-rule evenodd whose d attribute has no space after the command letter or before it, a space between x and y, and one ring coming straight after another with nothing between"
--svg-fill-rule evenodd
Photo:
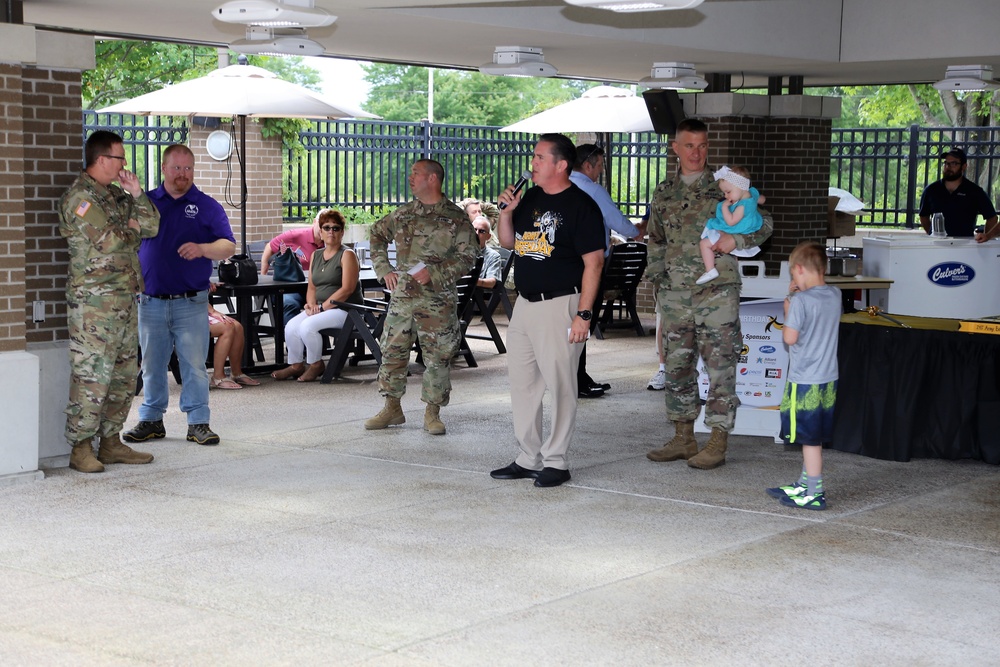
<instances>
[{"instance_id":1,"label":"man in camouflage uniform holding a baby in turquoise","mask_svg":"<svg viewBox=\"0 0 1000 667\"><path fill-rule=\"evenodd\" d=\"M743 336L740 331L740 274L728 253L763 243L773 228L761 210L764 224L747 236L722 234L715 245L719 277L696 285L704 273L698 241L705 223L723 199L707 166L708 128L688 119L677 126L671 148L678 157L677 173L656 187L649 219L649 264L646 277L656 287L663 325L666 361L667 418L674 422L673 440L646 454L652 461L684 459L692 468L708 470L726 462L729 432L740 400L736 395L736 364ZM705 424L712 429L705 448L698 451L694 422L701 405L698 396L698 355L709 377Z\"/></svg>"}]
</instances>

